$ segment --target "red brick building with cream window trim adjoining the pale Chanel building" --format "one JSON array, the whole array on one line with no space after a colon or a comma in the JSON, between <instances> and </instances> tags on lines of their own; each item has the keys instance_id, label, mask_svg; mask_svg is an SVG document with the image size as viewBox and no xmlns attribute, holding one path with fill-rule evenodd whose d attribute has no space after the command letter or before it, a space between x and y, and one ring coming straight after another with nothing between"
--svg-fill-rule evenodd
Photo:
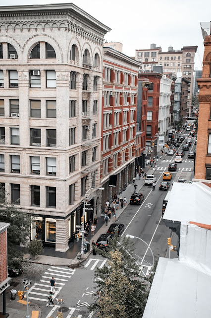
<instances>
[{"instance_id":1,"label":"red brick building with cream window trim adjoining the pale Chanel building","mask_svg":"<svg viewBox=\"0 0 211 318\"><path fill-rule=\"evenodd\" d=\"M141 63L104 47L102 109L102 206L134 176L138 70ZM117 175L116 187L109 176Z\"/></svg>"}]
</instances>

